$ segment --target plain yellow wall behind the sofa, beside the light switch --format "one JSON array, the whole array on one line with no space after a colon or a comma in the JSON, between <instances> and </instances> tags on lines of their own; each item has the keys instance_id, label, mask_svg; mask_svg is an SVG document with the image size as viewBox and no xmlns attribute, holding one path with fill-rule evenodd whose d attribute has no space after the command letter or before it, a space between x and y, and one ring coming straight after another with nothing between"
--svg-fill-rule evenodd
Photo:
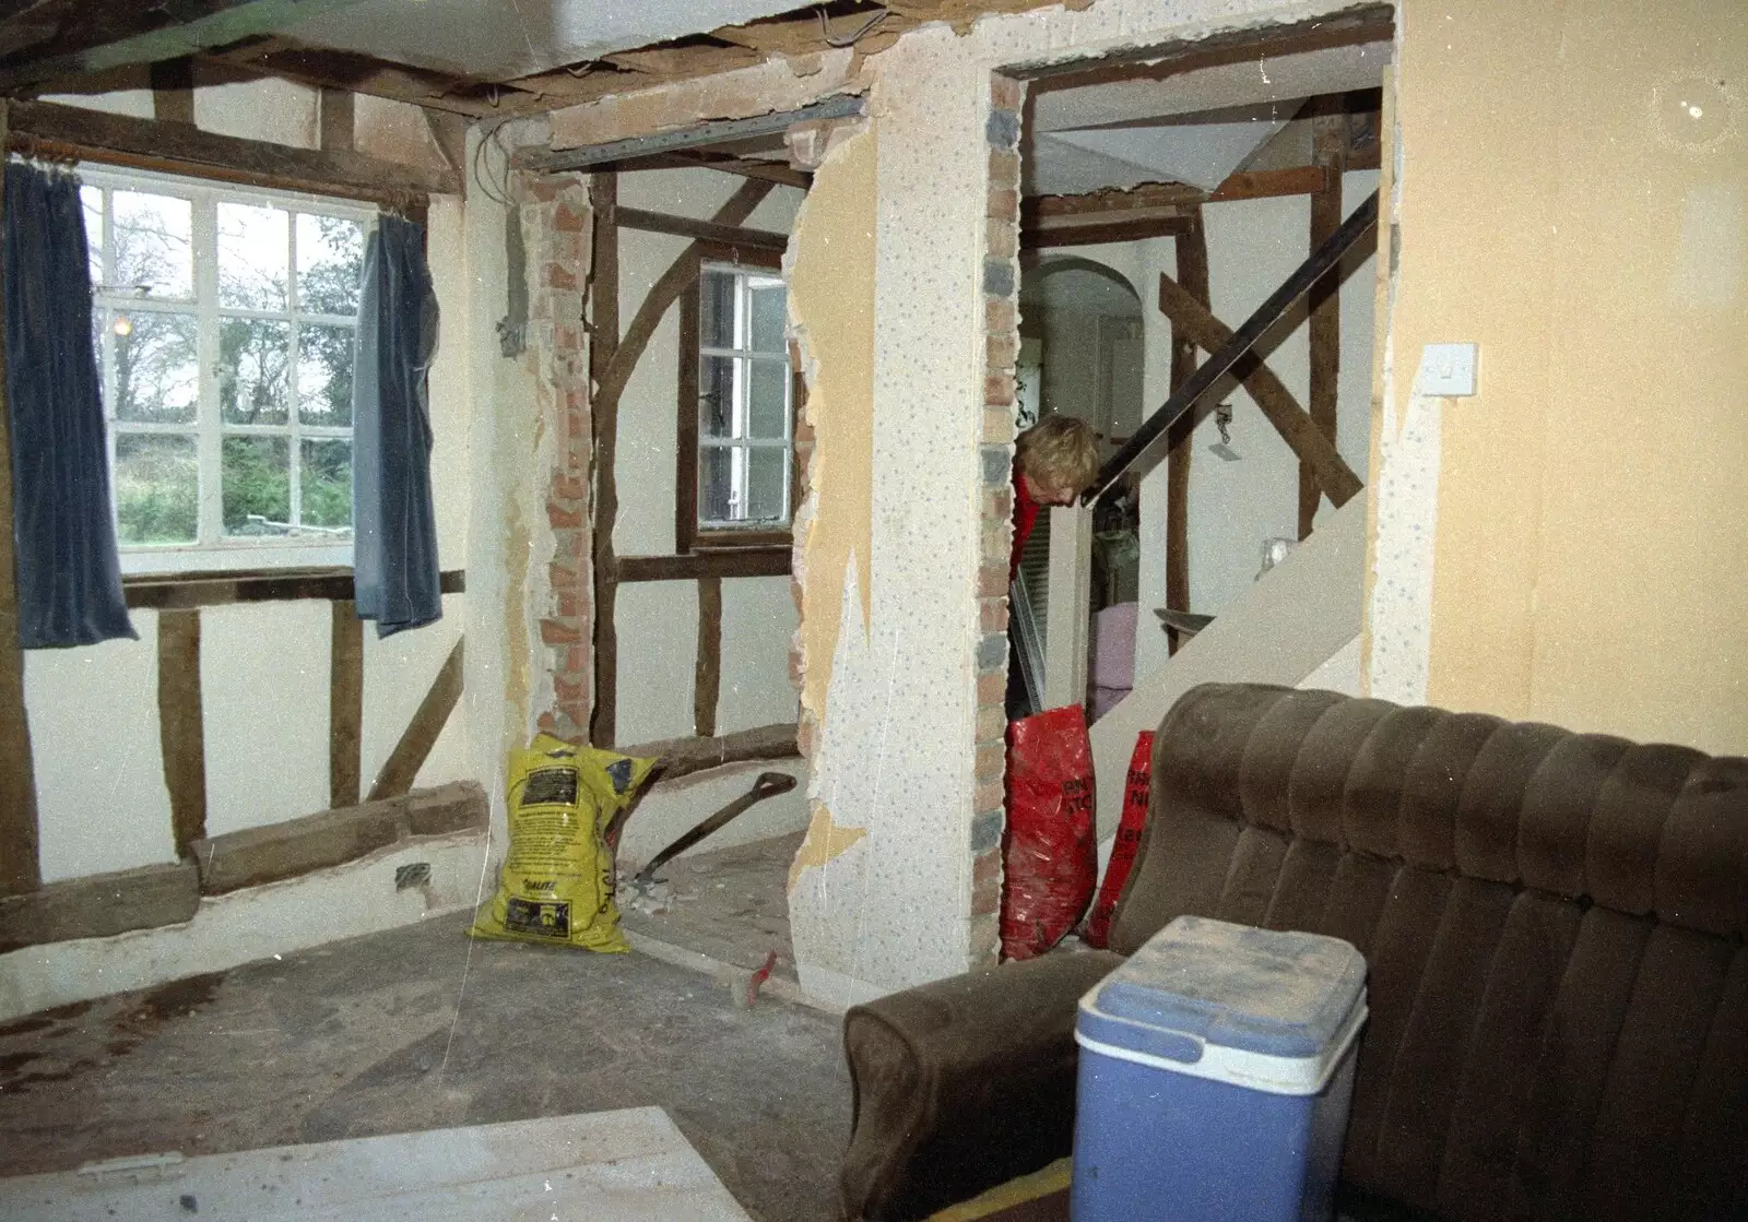
<instances>
[{"instance_id":1,"label":"plain yellow wall behind the sofa, beside the light switch","mask_svg":"<svg viewBox=\"0 0 1748 1222\"><path fill-rule=\"evenodd\" d=\"M1748 752L1748 21L1400 21L1397 409L1421 344L1481 344L1442 407L1426 698Z\"/></svg>"}]
</instances>

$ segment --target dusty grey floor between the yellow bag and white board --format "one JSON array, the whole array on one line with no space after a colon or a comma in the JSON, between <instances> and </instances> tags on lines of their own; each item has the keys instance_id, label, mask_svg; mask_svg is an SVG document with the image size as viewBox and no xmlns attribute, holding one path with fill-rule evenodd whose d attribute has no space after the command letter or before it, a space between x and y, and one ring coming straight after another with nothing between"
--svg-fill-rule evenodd
<instances>
[{"instance_id":1,"label":"dusty grey floor between the yellow bag and white board","mask_svg":"<svg viewBox=\"0 0 1748 1222\"><path fill-rule=\"evenodd\" d=\"M753 1217L832 1217L850 1131L836 1017L738 1009L642 955L472 942L467 921L0 1026L0 1175L657 1105Z\"/></svg>"}]
</instances>

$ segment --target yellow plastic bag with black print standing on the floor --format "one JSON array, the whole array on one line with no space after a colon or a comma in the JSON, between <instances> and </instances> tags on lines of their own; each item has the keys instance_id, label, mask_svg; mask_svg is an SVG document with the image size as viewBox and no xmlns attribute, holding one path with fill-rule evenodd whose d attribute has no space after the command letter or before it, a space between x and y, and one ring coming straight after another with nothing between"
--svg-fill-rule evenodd
<instances>
[{"instance_id":1,"label":"yellow plastic bag with black print standing on the floor","mask_svg":"<svg viewBox=\"0 0 1748 1222\"><path fill-rule=\"evenodd\" d=\"M468 934L629 951L619 932L605 832L654 766L652 759L577 746L552 734L510 752L510 851L498 893L479 909Z\"/></svg>"}]
</instances>

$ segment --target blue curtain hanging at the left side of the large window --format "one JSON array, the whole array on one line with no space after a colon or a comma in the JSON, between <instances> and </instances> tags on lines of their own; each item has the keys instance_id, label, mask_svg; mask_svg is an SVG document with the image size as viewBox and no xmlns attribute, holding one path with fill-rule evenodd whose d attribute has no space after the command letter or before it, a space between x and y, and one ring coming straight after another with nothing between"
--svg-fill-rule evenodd
<instances>
[{"instance_id":1,"label":"blue curtain hanging at the left side of the large window","mask_svg":"<svg viewBox=\"0 0 1748 1222\"><path fill-rule=\"evenodd\" d=\"M135 636L121 593L79 182L5 168L5 392L17 642Z\"/></svg>"}]
</instances>

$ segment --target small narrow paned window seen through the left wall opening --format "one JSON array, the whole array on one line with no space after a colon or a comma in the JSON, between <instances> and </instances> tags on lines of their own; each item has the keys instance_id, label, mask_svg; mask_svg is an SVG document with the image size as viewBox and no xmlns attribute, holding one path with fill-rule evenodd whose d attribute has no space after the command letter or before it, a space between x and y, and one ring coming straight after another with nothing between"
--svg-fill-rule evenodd
<instances>
[{"instance_id":1,"label":"small narrow paned window seen through the left wall opening","mask_svg":"<svg viewBox=\"0 0 1748 1222\"><path fill-rule=\"evenodd\" d=\"M785 313L783 278L774 267L703 266L696 304L696 470L682 474L682 488L696 488L697 496L692 542L774 542L778 531L788 530L795 386Z\"/></svg>"}]
</instances>

